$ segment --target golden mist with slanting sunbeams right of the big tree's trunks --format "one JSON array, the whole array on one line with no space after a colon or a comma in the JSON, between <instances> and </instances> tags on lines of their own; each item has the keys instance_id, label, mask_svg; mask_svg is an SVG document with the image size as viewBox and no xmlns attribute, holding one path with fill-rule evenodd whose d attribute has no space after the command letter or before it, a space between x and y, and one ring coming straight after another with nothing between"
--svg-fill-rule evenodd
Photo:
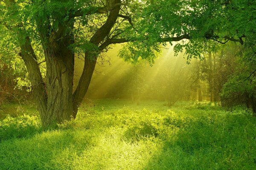
<instances>
[{"instance_id":1,"label":"golden mist with slanting sunbeams right of the big tree's trunks","mask_svg":"<svg viewBox=\"0 0 256 170\"><path fill-rule=\"evenodd\" d=\"M162 49L152 66L144 60L134 65L118 57L120 48L120 45L115 46L106 53L104 60L99 60L85 98L128 99L137 104L140 100L150 99L166 101L168 105L178 100L198 100L198 87L195 87L198 86L195 84L199 67L197 59L186 64L186 56L175 56L169 45L169 49ZM76 58L75 85L82 69L81 59ZM202 85L200 90L201 97L207 100L207 88Z\"/></svg>"}]
</instances>

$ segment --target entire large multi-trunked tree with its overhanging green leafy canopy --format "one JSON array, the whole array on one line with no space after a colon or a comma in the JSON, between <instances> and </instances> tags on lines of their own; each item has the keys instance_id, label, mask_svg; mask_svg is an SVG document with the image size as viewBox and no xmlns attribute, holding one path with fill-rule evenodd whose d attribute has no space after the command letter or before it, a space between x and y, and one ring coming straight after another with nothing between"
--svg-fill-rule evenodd
<instances>
[{"instance_id":1,"label":"entire large multi-trunked tree with its overhanging green leafy canopy","mask_svg":"<svg viewBox=\"0 0 256 170\"><path fill-rule=\"evenodd\" d=\"M4 0L1 48L15 49L23 59L41 122L47 126L76 117L97 57L109 45L128 42L121 57L141 57L152 64L161 45L189 39L175 45L176 52L185 48L189 59L200 56L206 39L243 44L256 28L254 11L255 2L243 0ZM244 18L250 26L240 26ZM73 92L74 57L81 52L84 69Z\"/></svg>"}]
</instances>

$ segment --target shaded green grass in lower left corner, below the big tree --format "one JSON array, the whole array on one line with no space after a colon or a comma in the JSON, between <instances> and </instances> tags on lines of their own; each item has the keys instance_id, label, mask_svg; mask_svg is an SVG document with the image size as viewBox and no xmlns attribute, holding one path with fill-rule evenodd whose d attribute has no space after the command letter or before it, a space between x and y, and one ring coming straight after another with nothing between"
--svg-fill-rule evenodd
<instances>
[{"instance_id":1,"label":"shaded green grass in lower left corner, below the big tree","mask_svg":"<svg viewBox=\"0 0 256 170\"><path fill-rule=\"evenodd\" d=\"M97 132L52 130L23 140L0 143L1 170L70 169L87 147L96 143Z\"/></svg>"}]
</instances>

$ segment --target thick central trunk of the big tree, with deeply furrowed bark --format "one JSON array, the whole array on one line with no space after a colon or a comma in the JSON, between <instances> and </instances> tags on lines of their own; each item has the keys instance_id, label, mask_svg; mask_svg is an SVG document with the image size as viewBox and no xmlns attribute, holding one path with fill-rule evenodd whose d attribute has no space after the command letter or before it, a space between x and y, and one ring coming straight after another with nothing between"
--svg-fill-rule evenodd
<instances>
[{"instance_id":1,"label":"thick central trunk of the big tree, with deeply furrowed bark","mask_svg":"<svg viewBox=\"0 0 256 170\"><path fill-rule=\"evenodd\" d=\"M51 23L49 17L38 17L36 20L47 65L47 111L41 113L44 126L70 120L73 115L75 54L70 45L74 43L74 20ZM60 14L56 17L64 16Z\"/></svg>"}]
</instances>

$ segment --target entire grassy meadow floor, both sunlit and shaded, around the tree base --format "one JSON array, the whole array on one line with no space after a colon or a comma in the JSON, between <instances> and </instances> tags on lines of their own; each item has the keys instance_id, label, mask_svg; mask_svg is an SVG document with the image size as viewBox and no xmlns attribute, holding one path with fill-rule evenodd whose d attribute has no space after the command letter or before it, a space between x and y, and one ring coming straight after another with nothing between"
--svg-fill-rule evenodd
<instances>
[{"instance_id":1,"label":"entire grassy meadow floor, both sunlit and shaded, around the tree base","mask_svg":"<svg viewBox=\"0 0 256 170\"><path fill-rule=\"evenodd\" d=\"M245 108L126 100L90 106L44 129L33 105L2 105L0 170L256 169L256 118Z\"/></svg>"}]
</instances>

